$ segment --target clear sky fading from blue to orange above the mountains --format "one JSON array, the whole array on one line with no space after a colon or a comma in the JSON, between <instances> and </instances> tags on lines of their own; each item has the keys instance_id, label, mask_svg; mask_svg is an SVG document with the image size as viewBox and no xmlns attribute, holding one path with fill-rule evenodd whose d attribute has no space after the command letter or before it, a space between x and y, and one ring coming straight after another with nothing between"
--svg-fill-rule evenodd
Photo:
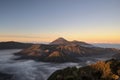
<instances>
[{"instance_id":1,"label":"clear sky fading from blue to orange above the mountains","mask_svg":"<svg viewBox=\"0 0 120 80\"><path fill-rule=\"evenodd\" d=\"M0 41L58 37L120 43L120 0L0 0Z\"/></svg>"}]
</instances>

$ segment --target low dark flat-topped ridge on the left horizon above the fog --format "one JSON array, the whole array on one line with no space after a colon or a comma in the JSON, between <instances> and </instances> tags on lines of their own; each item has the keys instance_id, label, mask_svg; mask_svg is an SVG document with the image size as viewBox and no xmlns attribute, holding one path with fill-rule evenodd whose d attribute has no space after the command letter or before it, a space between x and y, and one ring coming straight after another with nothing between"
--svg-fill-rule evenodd
<instances>
[{"instance_id":1,"label":"low dark flat-topped ridge on the left horizon above the fog","mask_svg":"<svg viewBox=\"0 0 120 80\"><path fill-rule=\"evenodd\" d=\"M21 43L21 42L0 42L0 49L25 49L33 45L32 43Z\"/></svg>"}]
</instances>

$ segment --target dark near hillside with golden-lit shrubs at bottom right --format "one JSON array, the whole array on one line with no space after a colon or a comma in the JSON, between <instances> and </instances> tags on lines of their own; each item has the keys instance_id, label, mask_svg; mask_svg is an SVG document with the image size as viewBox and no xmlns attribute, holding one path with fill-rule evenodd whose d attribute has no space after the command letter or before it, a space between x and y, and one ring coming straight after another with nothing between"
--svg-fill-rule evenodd
<instances>
[{"instance_id":1,"label":"dark near hillside with golden-lit shrubs at bottom right","mask_svg":"<svg viewBox=\"0 0 120 80\"><path fill-rule=\"evenodd\" d=\"M120 61L99 61L76 68L68 67L55 71L48 80L120 80Z\"/></svg>"}]
</instances>

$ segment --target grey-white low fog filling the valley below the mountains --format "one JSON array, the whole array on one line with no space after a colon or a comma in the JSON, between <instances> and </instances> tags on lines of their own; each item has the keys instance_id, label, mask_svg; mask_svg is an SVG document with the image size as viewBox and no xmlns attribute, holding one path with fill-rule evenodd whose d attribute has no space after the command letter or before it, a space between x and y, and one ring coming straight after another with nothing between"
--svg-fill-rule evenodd
<instances>
[{"instance_id":1,"label":"grey-white low fog filling the valley below the mountains","mask_svg":"<svg viewBox=\"0 0 120 80\"><path fill-rule=\"evenodd\" d=\"M0 72L14 74L15 80L47 80L56 70L68 66L85 66L98 60L106 60L113 54L99 55L95 57L81 57L79 63L44 63L33 60L13 60L17 56L13 53L20 50L0 50Z\"/></svg>"}]
</instances>

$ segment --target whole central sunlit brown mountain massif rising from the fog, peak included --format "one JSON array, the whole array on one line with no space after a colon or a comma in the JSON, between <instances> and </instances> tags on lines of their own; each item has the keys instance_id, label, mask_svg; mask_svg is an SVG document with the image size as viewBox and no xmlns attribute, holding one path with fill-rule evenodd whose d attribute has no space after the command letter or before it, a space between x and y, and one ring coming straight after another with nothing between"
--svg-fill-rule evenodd
<instances>
[{"instance_id":1,"label":"whole central sunlit brown mountain massif rising from the fog, peak included","mask_svg":"<svg viewBox=\"0 0 120 80\"><path fill-rule=\"evenodd\" d=\"M119 52L119 50L113 48L100 48L85 42L67 41L58 38L48 45L32 45L21 52L15 53L15 55L19 55L19 59L34 59L44 62L79 62L81 56Z\"/></svg>"}]
</instances>

